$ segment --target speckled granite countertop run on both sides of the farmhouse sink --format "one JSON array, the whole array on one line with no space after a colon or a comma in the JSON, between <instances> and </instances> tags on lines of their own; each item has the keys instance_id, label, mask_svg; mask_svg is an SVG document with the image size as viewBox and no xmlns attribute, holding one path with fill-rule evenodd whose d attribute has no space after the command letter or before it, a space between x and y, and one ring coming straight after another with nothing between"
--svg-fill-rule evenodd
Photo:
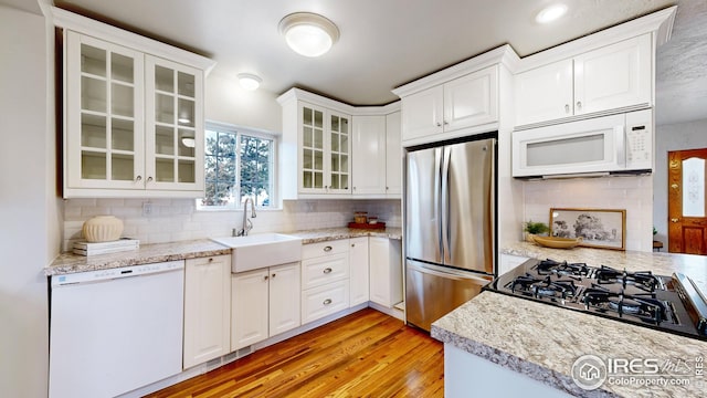
<instances>
[{"instance_id":1,"label":"speckled granite countertop run on both sides of the farmhouse sink","mask_svg":"<svg viewBox=\"0 0 707 398\"><path fill-rule=\"evenodd\" d=\"M303 244L357 237L382 237L398 240L402 239L401 228L327 228L285 233L302 238ZM44 269L44 274L48 276L60 275L74 272L106 270L119 266L140 265L221 254L231 254L231 248L226 248L208 239L171 243L145 244L140 245L138 250L91 256L66 252L60 254L56 259L54 259L52 264Z\"/></svg>"}]
</instances>

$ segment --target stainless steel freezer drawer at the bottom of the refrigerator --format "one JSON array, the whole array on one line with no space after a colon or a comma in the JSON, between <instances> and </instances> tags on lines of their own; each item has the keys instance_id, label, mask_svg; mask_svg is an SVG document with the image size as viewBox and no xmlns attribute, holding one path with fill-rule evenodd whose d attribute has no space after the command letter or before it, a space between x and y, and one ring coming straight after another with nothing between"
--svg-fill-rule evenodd
<instances>
[{"instance_id":1,"label":"stainless steel freezer drawer at the bottom of the refrigerator","mask_svg":"<svg viewBox=\"0 0 707 398\"><path fill-rule=\"evenodd\" d=\"M466 303L490 283L490 275L408 259L405 262L405 318L430 332L432 323Z\"/></svg>"}]
</instances>

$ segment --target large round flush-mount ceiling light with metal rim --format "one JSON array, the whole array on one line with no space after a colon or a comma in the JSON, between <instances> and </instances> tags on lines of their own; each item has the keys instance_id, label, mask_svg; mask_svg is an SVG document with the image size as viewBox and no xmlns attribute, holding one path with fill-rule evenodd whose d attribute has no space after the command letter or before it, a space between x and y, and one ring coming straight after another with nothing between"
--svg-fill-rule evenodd
<instances>
[{"instance_id":1,"label":"large round flush-mount ceiling light with metal rim","mask_svg":"<svg viewBox=\"0 0 707 398\"><path fill-rule=\"evenodd\" d=\"M279 33L291 49L304 56L325 54L339 40L339 29L312 12L295 12L279 21Z\"/></svg>"}]
</instances>

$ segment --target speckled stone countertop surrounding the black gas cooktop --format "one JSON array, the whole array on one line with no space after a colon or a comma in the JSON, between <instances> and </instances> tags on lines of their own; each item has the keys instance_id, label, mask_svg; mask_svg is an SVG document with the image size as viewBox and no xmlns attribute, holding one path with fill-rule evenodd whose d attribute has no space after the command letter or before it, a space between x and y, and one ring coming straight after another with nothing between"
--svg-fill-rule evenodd
<instances>
[{"instance_id":1,"label":"speckled stone countertop surrounding the black gas cooktop","mask_svg":"<svg viewBox=\"0 0 707 398\"><path fill-rule=\"evenodd\" d=\"M683 272L707 280L707 258L667 253L576 248L559 250L518 242L502 253L528 258L581 261L671 275ZM707 291L706 291L707 292ZM432 337L505 368L578 397L707 397L707 376L695 375L696 357L707 357L707 342L582 314L567 308L483 292L432 324ZM657 359L689 366L688 385L637 386L604 383L585 391L571 379L582 355ZM686 370L685 368L682 368Z\"/></svg>"}]
</instances>

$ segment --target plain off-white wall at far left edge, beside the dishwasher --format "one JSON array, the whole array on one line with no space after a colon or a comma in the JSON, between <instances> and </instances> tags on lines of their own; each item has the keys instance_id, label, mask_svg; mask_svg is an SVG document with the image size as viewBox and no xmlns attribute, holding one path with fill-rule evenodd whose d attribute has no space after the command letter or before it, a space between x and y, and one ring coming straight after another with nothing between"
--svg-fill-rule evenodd
<instances>
[{"instance_id":1,"label":"plain off-white wall at far left edge, beside the dishwasher","mask_svg":"<svg viewBox=\"0 0 707 398\"><path fill-rule=\"evenodd\" d=\"M55 197L53 30L44 18L0 6L0 388L46 397L48 286L59 251Z\"/></svg>"}]
</instances>

